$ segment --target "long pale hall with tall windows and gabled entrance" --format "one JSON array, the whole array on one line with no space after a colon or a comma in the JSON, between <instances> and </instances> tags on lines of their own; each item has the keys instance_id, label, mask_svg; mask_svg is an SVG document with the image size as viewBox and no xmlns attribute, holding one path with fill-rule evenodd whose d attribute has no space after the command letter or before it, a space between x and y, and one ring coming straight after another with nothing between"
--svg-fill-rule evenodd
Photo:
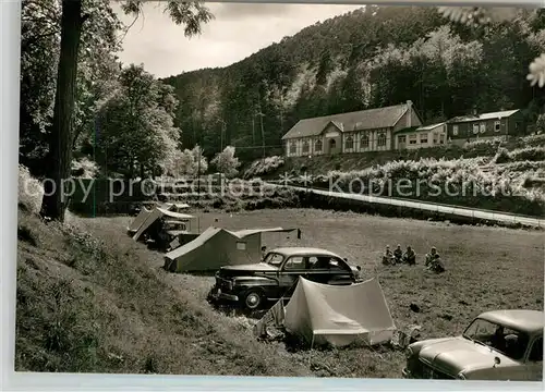
<instances>
[{"instance_id":1,"label":"long pale hall with tall windows and gabled entrance","mask_svg":"<svg viewBox=\"0 0 545 392\"><path fill-rule=\"evenodd\" d=\"M408 100L386 108L300 120L282 140L287 157L387 151L395 148L396 131L421 125L420 114Z\"/></svg>"}]
</instances>

